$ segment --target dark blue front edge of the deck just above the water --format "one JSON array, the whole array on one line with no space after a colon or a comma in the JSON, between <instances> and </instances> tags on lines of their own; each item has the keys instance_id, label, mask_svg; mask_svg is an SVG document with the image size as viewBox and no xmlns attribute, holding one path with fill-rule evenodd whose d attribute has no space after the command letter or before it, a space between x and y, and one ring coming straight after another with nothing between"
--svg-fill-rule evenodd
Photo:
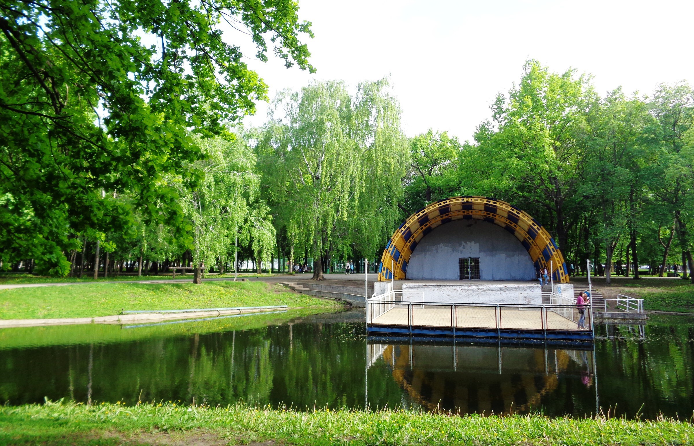
<instances>
[{"instance_id":1,"label":"dark blue front edge of the deck just above the water","mask_svg":"<svg viewBox=\"0 0 694 446\"><path fill-rule=\"evenodd\" d=\"M454 332L448 327L393 327L391 325L369 325L368 334L391 334L395 336L424 336L452 338ZM591 331L561 331L561 330L521 330L521 329L455 329L455 338L493 338L493 339L523 339L539 342L550 341L582 341L593 342Z\"/></svg>"}]
</instances>

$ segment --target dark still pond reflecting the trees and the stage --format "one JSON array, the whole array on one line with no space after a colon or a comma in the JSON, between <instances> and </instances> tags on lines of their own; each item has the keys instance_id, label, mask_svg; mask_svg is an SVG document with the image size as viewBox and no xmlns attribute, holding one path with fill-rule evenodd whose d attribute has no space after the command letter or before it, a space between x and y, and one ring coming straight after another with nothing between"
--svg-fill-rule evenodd
<instances>
[{"instance_id":1,"label":"dark still pond reflecting the trees and the stage","mask_svg":"<svg viewBox=\"0 0 694 446\"><path fill-rule=\"evenodd\" d=\"M298 312L0 329L0 403L693 415L694 317L597 326L593 350L367 342L363 311Z\"/></svg>"}]
</instances>

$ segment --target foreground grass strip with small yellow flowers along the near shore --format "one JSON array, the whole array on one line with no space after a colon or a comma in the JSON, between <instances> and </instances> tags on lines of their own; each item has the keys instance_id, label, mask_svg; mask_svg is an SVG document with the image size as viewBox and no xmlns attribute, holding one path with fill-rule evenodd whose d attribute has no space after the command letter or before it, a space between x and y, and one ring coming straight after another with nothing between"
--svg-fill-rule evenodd
<instances>
[{"instance_id":1,"label":"foreground grass strip with small yellow flowers along the near shore","mask_svg":"<svg viewBox=\"0 0 694 446\"><path fill-rule=\"evenodd\" d=\"M413 411L298 412L242 405L71 403L0 407L3 445L194 444L275 440L296 445L688 445L694 426L671 419L459 417ZM214 443L218 444L218 443Z\"/></svg>"}]
</instances>

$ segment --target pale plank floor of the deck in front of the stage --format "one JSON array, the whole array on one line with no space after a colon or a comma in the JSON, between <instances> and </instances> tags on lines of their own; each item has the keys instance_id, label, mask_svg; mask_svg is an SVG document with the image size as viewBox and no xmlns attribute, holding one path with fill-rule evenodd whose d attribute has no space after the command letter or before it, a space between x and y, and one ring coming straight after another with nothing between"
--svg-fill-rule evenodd
<instances>
[{"instance_id":1,"label":"pale plank floor of the deck in front of the stage","mask_svg":"<svg viewBox=\"0 0 694 446\"><path fill-rule=\"evenodd\" d=\"M413 325L425 327L450 327L450 306L413 306ZM541 330L542 320L539 309L523 309L501 307L502 329L532 329ZM459 306L457 307L456 327L461 328L496 328L496 308L489 306ZM372 324L409 325L407 308L391 308L386 313L375 317ZM586 322L587 323L587 322ZM547 329L577 330L576 322L547 311Z\"/></svg>"}]
</instances>

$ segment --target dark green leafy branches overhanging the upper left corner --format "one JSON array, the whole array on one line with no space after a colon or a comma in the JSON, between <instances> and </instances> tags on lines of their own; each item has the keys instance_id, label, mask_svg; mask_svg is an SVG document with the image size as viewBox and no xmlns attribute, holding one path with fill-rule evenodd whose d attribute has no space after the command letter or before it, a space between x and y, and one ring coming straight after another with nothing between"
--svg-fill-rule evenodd
<instances>
[{"instance_id":1,"label":"dark green leafy branches overhanging the upper left corner","mask_svg":"<svg viewBox=\"0 0 694 446\"><path fill-rule=\"evenodd\" d=\"M35 258L65 274L65 253L135 220L185 244L180 188L201 181L208 138L253 113L266 85L224 30L242 27L313 68L298 6L279 1L5 1L0 6L0 261ZM244 37L245 38L245 37ZM134 210L139 211L136 217Z\"/></svg>"}]
</instances>

